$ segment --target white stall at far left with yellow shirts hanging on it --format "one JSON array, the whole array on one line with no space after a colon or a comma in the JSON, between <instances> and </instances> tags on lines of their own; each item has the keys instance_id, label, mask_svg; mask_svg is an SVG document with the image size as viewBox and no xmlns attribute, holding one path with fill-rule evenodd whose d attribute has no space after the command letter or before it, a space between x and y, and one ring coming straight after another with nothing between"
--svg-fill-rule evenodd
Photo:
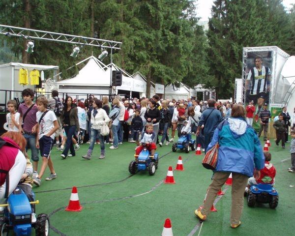
<instances>
[{"instance_id":1,"label":"white stall at far left with yellow shirts hanging on it","mask_svg":"<svg viewBox=\"0 0 295 236\"><path fill-rule=\"evenodd\" d=\"M21 97L21 91L24 89L33 89L33 85L20 85L19 84L19 70L21 68L28 69L31 71L33 69L42 71L42 70L54 70L54 73L57 73L59 66L56 65L34 65L34 64L24 64L18 62L10 62L7 64L0 65L0 89L3 90L13 90L11 94L6 94L5 99L5 92L0 93L0 101L3 103L7 99L11 99L14 97ZM20 92L18 92L20 91Z\"/></svg>"}]
</instances>

